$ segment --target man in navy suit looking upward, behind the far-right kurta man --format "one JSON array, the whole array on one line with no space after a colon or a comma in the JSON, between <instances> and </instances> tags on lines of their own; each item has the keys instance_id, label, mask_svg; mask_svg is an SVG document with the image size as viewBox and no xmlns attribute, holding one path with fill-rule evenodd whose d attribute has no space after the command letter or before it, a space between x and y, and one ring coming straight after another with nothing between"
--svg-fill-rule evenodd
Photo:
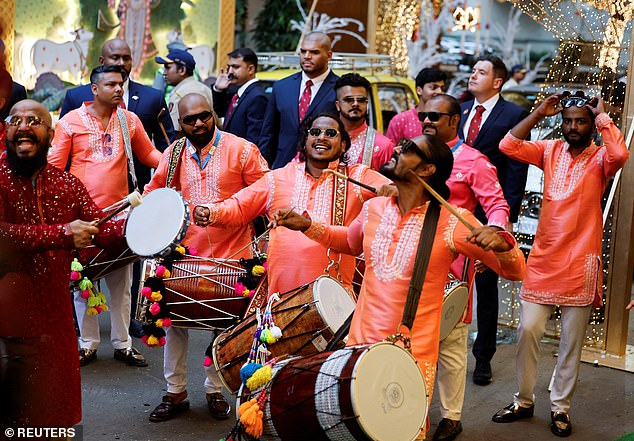
<instances>
[{"instance_id":1,"label":"man in navy suit looking upward, behind the far-right kurta man","mask_svg":"<svg viewBox=\"0 0 634 441\"><path fill-rule=\"evenodd\" d=\"M528 165L510 159L500 152L499 144L504 135L528 115L528 112L500 96L508 71L504 62L496 56L480 57L469 77L469 92L474 99L462 104L459 135L473 148L485 154L498 172L504 198L511 209L510 222L517 222ZM481 207L475 212L486 224ZM479 385L491 383L491 359L496 350L498 321L498 276L491 270L476 275L478 336L473 343L476 366L473 382Z\"/></svg>"}]
</instances>

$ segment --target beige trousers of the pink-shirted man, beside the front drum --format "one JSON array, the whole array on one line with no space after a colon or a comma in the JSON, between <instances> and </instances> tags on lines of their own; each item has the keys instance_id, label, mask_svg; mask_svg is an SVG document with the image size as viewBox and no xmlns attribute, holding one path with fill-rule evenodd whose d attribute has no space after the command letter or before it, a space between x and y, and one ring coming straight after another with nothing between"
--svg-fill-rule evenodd
<instances>
[{"instance_id":1,"label":"beige trousers of the pink-shirted man, beside the front drum","mask_svg":"<svg viewBox=\"0 0 634 441\"><path fill-rule=\"evenodd\" d=\"M467 337L469 325L460 322L440 342L436 381L440 416L460 421L467 382Z\"/></svg>"}]
</instances>

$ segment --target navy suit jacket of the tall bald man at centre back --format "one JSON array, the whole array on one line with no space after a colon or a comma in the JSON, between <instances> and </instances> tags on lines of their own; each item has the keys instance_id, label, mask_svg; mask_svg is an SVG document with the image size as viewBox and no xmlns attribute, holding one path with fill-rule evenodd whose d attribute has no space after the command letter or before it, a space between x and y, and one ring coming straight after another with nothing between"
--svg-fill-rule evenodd
<instances>
[{"instance_id":1,"label":"navy suit jacket of the tall bald man at centre back","mask_svg":"<svg viewBox=\"0 0 634 441\"><path fill-rule=\"evenodd\" d=\"M257 143L262 155L271 168L280 168L288 164L297 154L297 147L302 138L302 123L320 112L336 112L335 83L339 77L332 71L328 74L310 107L299 121L298 103L302 73L297 72L273 84L273 91L266 108L262 133Z\"/></svg>"}]
</instances>

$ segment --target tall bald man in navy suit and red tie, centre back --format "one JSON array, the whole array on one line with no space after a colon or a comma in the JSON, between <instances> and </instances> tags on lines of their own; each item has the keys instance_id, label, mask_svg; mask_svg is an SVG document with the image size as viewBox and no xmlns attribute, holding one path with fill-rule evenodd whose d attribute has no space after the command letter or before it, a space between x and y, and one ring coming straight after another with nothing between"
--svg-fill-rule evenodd
<instances>
[{"instance_id":1,"label":"tall bald man in navy suit and red tie, centre back","mask_svg":"<svg viewBox=\"0 0 634 441\"><path fill-rule=\"evenodd\" d=\"M273 84L262 133L257 143L271 168L280 168L297 154L303 122L320 112L336 112L335 75L328 66L332 43L323 32L307 34L300 45L301 72Z\"/></svg>"}]
</instances>

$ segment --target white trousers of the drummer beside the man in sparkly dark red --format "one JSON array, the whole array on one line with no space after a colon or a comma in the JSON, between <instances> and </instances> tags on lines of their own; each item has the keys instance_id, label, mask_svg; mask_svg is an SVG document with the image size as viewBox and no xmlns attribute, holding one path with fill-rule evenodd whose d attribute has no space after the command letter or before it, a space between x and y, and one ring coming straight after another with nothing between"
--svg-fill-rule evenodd
<instances>
[{"instance_id":1,"label":"white trousers of the drummer beside the man in sparkly dark red","mask_svg":"<svg viewBox=\"0 0 634 441\"><path fill-rule=\"evenodd\" d=\"M110 292L107 301L110 314L110 341L115 349L128 349L132 346L132 339L128 333L130 327L130 287L132 286L132 265L126 265L101 279ZM97 349L100 342L99 316L86 315L88 304L81 298L81 293L75 291L75 313L79 324L79 347L83 349Z\"/></svg>"}]
</instances>

